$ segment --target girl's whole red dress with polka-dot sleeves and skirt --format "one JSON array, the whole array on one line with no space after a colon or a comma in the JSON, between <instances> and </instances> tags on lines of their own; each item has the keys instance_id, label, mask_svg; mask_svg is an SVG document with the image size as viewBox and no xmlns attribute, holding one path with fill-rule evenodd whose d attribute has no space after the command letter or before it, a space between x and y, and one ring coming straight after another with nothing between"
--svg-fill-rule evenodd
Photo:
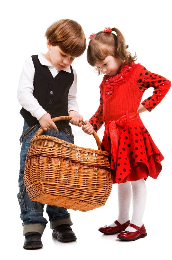
<instances>
[{"instance_id":1,"label":"girl's whole red dress with polka-dot sleeves and skirt","mask_svg":"<svg viewBox=\"0 0 172 260\"><path fill-rule=\"evenodd\" d=\"M104 76L100 84L100 106L89 122L95 131L105 125L102 145L110 155L113 183L158 177L164 157L137 109L147 88L153 87L154 92L142 105L151 111L170 86L169 80L133 62L124 62L115 76Z\"/></svg>"}]
</instances>

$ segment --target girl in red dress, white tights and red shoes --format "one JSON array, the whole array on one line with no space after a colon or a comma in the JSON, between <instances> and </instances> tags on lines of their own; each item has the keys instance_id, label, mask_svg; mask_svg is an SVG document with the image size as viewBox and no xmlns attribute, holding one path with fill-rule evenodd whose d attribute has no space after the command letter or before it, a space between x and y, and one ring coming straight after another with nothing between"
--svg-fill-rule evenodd
<instances>
[{"instance_id":1,"label":"girl in red dress, white tights and red shoes","mask_svg":"<svg viewBox=\"0 0 172 260\"><path fill-rule=\"evenodd\" d=\"M113 33L113 32L114 33ZM102 145L110 154L113 183L118 183L119 214L112 224L99 231L126 241L147 235L142 218L145 209L148 176L156 179L164 159L145 129L139 113L151 111L167 94L171 83L164 77L135 64L136 56L126 50L124 36L117 28L106 28L91 35L87 61L98 73L105 74L100 84L100 105L83 126L93 129L105 125ZM154 92L141 104L143 92L153 87ZM133 214L129 221L130 201Z\"/></svg>"}]
</instances>

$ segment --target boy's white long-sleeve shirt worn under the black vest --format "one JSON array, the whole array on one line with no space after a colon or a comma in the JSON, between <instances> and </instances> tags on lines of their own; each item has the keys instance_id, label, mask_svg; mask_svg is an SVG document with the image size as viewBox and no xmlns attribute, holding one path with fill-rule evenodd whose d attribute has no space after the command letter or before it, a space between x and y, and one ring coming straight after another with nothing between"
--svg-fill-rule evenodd
<instances>
[{"instance_id":1,"label":"boy's white long-sleeve shirt worn under the black vest","mask_svg":"<svg viewBox=\"0 0 172 260\"><path fill-rule=\"evenodd\" d=\"M55 77L60 70L57 70L43 55L43 53L38 52L38 59L42 65L48 66L51 74ZM76 101L76 90L77 90L77 75L76 70L72 67L74 73L74 81L69 89L68 94L68 112L74 110L79 112L78 104ZM71 73L70 66L64 68L68 73ZM32 58L29 57L25 60L23 65L23 70L20 75L17 98L22 107L35 116L38 120L46 114L46 110L38 103L37 99L33 96L33 79L35 75L35 68L33 65Z\"/></svg>"}]
</instances>

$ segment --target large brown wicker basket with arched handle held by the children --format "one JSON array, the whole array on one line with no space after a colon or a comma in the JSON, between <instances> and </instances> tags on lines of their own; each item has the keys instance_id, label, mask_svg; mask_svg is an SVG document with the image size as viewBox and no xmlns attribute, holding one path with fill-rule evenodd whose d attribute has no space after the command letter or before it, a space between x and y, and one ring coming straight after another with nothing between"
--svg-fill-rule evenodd
<instances>
[{"instance_id":1,"label":"large brown wicker basket with arched handle held by the children","mask_svg":"<svg viewBox=\"0 0 172 260\"><path fill-rule=\"evenodd\" d=\"M71 117L56 117L53 121L64 119ZM31 140L25 162L24 182L30 199L80 211L104 206L111 193L112 174L109 154L102 151L96 132L93 135L98 150L42 133L40 127Z\"/></svg>"}]
</instances>

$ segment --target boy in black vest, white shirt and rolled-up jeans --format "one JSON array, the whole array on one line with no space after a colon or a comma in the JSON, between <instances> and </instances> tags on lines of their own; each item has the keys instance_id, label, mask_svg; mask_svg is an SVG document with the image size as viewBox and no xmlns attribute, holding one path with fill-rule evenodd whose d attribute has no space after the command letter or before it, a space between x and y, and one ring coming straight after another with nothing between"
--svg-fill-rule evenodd
<instances>
[{"instance_id":1,"label":"boy in black vest, white shirt and rolled-up jeans","mask_svg":"<svg viewBox=\"0 0 172 260\"><path fill-rule=\"evenodd\" d=\"M82 126L83 117L78 114L76 102L76 71L71 64L86 49L86 39L81 25L70 19L53 23L45 33L48 52L29 57L20 76L18 101L24 118L20 153L18 201L23 220L25 249L42 248L41 236L48 223L43 217L44 205L31 201L25 190L23 172L30 140L41 126L45 135L56 136L69 143L74 142L68 120L53 122L57 116L71 116L73 125ZM76 240L71 229L72 221L67 209L47 205L52 236L60 242Z\"/></svg>"}]
</instances>

